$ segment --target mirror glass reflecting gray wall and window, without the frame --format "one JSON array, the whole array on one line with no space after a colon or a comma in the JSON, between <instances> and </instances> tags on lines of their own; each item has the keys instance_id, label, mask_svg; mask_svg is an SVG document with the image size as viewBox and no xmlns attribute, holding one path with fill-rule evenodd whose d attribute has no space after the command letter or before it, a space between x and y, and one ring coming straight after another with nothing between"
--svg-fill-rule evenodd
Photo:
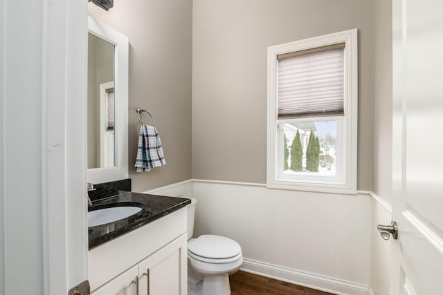
<instances>
[{"instance_id":1,"label":"mirror glass reflecting gray wall and window, without the frame","mask_svg":"<svg viewBox=\"0 0 443 295\"><path fill-rule=\"evenodd\" d=\"M88 169L114 166L114 47L88 34Z\"/></svg>"}]
</instances>

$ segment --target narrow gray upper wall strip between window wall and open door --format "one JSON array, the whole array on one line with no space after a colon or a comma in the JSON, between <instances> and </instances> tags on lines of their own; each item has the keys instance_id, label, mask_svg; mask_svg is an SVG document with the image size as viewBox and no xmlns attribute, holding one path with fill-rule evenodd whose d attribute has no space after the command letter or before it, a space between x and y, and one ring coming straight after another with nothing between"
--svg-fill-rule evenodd
<instances>
[{"instance_id":1,"label":"narrow gray upper wall strip between window wall and open door","mask_svg":"<svg viewBox=\"0 0 443 295\"><path fill-rule=\"evenodd\" d=\"M392 1L374 0L374 186L390 203L392 182Z\"/></svg>"}]
</instances>

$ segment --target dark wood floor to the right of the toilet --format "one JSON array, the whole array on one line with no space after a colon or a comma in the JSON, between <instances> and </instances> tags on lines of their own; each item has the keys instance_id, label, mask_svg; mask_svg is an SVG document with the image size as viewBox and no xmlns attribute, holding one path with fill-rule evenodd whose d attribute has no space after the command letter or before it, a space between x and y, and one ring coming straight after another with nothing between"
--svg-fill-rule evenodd
<instances>
[{"instance_id":1,"label":"dark wood floor to the right of the toilet","mask_svg":"<svg viewBox=\"0 0 443 295\"><path fill-rule=\"evenodd\" d=\"M231 295L331 295L327 292L242 271L230 275L229 283Z\"/></svg>"}]
</instances>

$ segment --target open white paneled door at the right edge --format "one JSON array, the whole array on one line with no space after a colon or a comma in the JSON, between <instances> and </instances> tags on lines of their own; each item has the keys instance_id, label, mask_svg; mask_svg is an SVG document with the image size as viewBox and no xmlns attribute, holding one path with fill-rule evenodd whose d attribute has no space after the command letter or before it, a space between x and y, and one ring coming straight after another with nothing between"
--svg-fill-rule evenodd
<instances>
[{"instance_id":1,"label":"open white paneled door at the right edge","mask_svg":"<svg viewBox=\"0 0 443 295\"><path fill-rule=\"evenodd\" d=\"M390 294L443 294L443 2L393 0Z\"/></svg>"}]
</instances>

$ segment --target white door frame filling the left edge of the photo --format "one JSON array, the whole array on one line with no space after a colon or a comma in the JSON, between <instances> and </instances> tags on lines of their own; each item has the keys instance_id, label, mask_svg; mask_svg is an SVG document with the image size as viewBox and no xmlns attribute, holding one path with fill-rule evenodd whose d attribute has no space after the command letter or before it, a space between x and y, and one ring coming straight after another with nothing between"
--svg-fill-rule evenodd
<instances>
[{"instance_id":1,"label":"white door frame filling the left edge of the photo","mask_svg":"<svg viewBox=\"0 0 443 295\"><path fill-rule=\"evenodd\" d=\"M0 15L0 293L67 294L87 279L87 1Z\"/></svg>"}]
</instances>

